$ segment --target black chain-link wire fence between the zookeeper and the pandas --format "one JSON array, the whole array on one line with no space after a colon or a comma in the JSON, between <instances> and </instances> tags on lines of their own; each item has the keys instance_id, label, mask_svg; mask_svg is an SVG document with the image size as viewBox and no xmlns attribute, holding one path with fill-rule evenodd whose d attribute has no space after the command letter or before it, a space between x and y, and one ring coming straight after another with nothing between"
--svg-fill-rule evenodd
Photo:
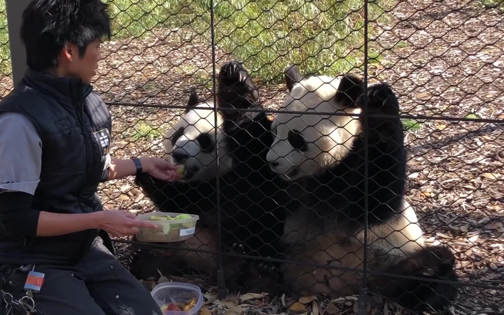
<instances>
[{"instance_id":1,"label":"black chain-link wire fence between the zookeeper and the pandas","mask_svg":"<svg viewBox=\"0 0 504 315\"><path fill-rule=\"evenodd\" d=\"M183 139L194 140L176 156L192 181L143 178L140 187L130 177L100 186L106 208L200 216L195 235L184 241L115 241L118 258L146 286L196 283L213 314L400 314L418 302L435 306L436 295L449 298L454 290L453 278L440 278L450 275L451 262L443 259L451 254L442 247L414 254L423 240L424 247L446 244L455 257L459 292L449 310L504 311L501 1L105 2L114 38L102 46L94 85L112 113L111 154L163 157L163 148L175 152L183 149ZM0 3L5 94L12 80ZM247 74L241 74L251 78L247 82L258 89L264 110L255 107L252 93L240 99L243 110L185 114L195 89L201 102L230 102L218 77L228 60L242 62ZM309 113L306 106L322 102L310 95L323 96L328 87L307 95L299 87L289 91L289 64L299 65L303 78L354 73L364 86L388 82L399 112L386 89L370 87L363 92L372 92L370 97L357 103L367 108L360 113L353 107L341 115L343 96L339 111L325 103L316 109L323 114ZM233 76L238 68L225 68L227 83L242 84L243 77ZM282 108L289 95L302 102ZM261 111L270 118L244 119ZM220 124L221 118L232 123ZM275 140L259 133L261 123L272 123L263 130L269 128ZM351 145L363 154L332 168ZM303 180L290 183L271 169ZM407 205L403 200L414 212L392 219L390 209ZM420 238L411 223L415 215ZM380 220L385 222L377 226ZM234 290L240 285L241 291ZM240 293L224 298L226 289Z\"/></svg>"}]
</instances>

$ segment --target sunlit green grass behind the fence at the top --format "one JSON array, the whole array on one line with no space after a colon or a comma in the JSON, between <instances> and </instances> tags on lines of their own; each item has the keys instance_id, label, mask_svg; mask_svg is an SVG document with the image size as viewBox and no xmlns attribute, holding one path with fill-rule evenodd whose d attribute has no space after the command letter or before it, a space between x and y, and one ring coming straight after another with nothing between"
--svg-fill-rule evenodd
<instances>
[{"instance_id":1,"label":"sunlit green grass behind the fence at the top","mask_svg":"<svg viewBox=\"0 0 504 315\"><path fill-rule=\"evenodd\" d=\"M115 38L144 37L154 28L186 28L211 45L210 0L102 0L110 6ZM386 1L369 2L369 20L386 19ZM294 62L328 75L363 64L360 0L215 0L215 42L264 81L282 80ZM10 72L5 0L0 0L1 70ZM371 26L368 27L372 33ZM370 62L375 62L372 51ZM0 60L1 61L1 60Z\"/></svg>"}]
</instances>

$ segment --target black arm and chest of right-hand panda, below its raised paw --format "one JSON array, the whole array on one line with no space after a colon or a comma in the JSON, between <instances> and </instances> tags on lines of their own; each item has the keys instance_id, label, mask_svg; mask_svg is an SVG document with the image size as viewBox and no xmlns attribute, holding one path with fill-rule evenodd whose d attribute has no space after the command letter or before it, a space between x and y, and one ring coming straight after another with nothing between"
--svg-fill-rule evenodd
<instances>
[{"instance_id":1,"label":"black arm and chest of right-hand panda, below its raised paw","mask_svg":"<svg viewBox=\"0 0 504 315\"><path fill-rule=\"evenodd\" d=\"M381 129L370 128L368 135L367 209L370 225L384 222L395 215L404 193L405 158L401 133L384 138ZM390 129L387 129L390 130ZM365 143L356 140L354 150L337 167L314 178L306 185L310 194L313 222L322 227L324 222L337 222L339 226L354 230L364 222ZM319 183L323 182L324 185Z\"/></svg>"}]
</instances>

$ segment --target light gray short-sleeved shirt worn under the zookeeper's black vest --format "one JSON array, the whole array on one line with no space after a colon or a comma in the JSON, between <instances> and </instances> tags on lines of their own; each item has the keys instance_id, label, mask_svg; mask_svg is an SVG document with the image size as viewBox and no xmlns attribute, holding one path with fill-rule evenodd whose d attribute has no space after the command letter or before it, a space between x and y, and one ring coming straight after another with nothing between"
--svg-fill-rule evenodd
<instances>
[{"instance_id":1,"label":"light gray short-sleeved shirt worn under the zookeeper's black vest","mask_svg":"<svg viewBox=\"0 0 504 315\"><path fill-rule=\"evenodd\" d=\"M0 114L0 193L34 195L40 181L42 145L27 117L20 113ZM107 154L104 169L109 163Z\"/></svg>"}]
</instances>

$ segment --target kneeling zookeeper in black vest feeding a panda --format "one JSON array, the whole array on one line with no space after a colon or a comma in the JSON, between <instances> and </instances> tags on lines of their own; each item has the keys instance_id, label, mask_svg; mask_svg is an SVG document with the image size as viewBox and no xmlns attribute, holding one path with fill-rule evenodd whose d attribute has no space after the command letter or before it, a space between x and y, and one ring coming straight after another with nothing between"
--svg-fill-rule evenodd
<instances>
[{"instance_id":1,"label":"kneeling zookeeper in black vest feeding a panda","mask_svg":"<svg viewBox=\"0 0 504 315\"><path fill-rule=\"evenodd\" d=\"M99 0L35 0L23 13L27 71L0 102L0 314L26 314L32 299L40 315L161 315L108 235L155 225L97 195L138 172L177 179L160 158L110 159L110 114L90 84L110 35Z\"/></svg>"}]
</instances>

